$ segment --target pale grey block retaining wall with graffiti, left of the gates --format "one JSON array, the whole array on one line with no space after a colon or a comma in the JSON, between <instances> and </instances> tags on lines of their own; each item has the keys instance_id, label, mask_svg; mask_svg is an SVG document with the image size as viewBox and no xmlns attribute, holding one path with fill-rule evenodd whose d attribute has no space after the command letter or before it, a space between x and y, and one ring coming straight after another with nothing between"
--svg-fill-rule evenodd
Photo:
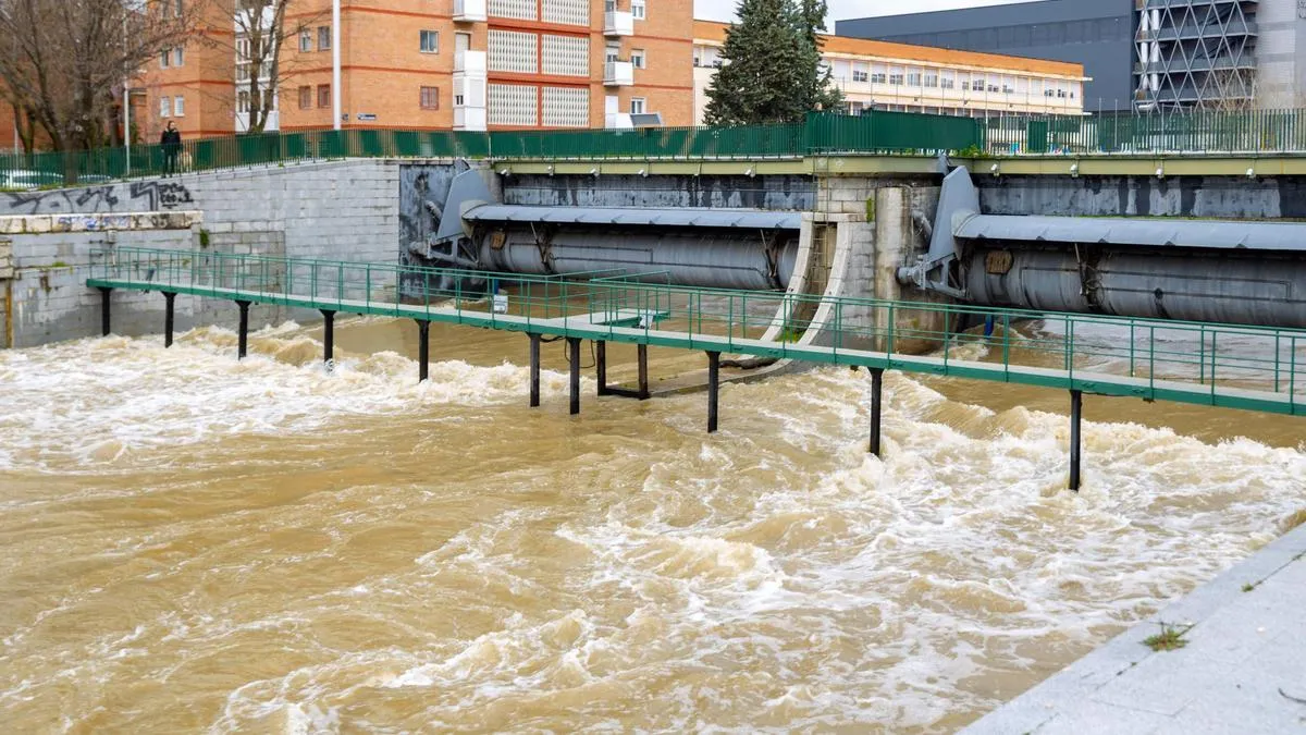
<instances>
[{"instance_id":1,"label":"pale grey block retaining wall with graffiti, left of the gates","mask_svg":"<svg viewBox=\"0 0 1306 735\"><path fill-rule=\"evenodd\" d=\"M422 201L443 204L452 175L452 162L359 160L0 194L0 220L21 222L0 226L14 264L14 277L0 281L13 303L4 313L12 337L0 345L98 335L101 297L85 280L93 254L115 245L396 263L404 238L424 237L430 220L421 216ZM188 213L184 226L166 216L179 212ZM119 217L124 213L153 214ZM112 306L116 333L162 328L157 293L115 292ZM251 311L259 327L317 318L274 306ZM178 330L235 320L229 302L178 297Z\"/></svg>"}]
</instances>

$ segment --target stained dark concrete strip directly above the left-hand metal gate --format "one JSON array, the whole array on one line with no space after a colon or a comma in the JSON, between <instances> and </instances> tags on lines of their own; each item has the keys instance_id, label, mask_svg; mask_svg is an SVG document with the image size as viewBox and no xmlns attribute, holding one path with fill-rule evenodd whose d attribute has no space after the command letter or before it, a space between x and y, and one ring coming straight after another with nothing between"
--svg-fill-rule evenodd
<instances>
[{"instance_id":1,"label":"stained dark concrete strip directly above the left-hand metal gate","mask_svg":"<svg viewBox=\"0 0 1306 735\"><path fill-rule=\"evenodd\" d=\"M731 207L811 211L811 177L637 177L512 175L503 183L507 204L549 207Z\"/></svg>"}]
</instances>

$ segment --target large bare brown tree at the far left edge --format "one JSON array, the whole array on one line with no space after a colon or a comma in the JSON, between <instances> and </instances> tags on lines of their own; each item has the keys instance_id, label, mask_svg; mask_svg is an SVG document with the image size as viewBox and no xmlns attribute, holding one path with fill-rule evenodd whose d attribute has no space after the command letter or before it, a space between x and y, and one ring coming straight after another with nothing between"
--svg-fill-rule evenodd
<instances>
[{"instance_id":1,"label":"large bare brown tree at the far left edge","mask_svg":"<svg viewBox=\"0 0 1306 735\"><path fill-rule=\"evenodd\" d=\"M182 43L200 3L0 0L0 80L56 150L110 140L115 90ZM65 175L76 179L72 157Z\"/></svg>"}]
</instances>

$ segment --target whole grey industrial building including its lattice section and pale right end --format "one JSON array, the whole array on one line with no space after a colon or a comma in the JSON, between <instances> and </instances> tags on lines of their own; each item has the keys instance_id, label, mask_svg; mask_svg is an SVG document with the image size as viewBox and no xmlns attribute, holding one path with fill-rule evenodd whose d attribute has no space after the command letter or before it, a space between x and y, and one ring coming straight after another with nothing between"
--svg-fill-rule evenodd
<instances>
[{"instance_id":1,"label":"whole grey industrial building including its lattice section and pale right end","mask_svg":"<svg viewBox=\"0 0 1306 735\"><path fill-rule=\"evenodd\" d=\"M1080 63L1089 112L1306 107L1306 0L1042 0L846 20L836 33Z\"/></svg>"}]
</instances>

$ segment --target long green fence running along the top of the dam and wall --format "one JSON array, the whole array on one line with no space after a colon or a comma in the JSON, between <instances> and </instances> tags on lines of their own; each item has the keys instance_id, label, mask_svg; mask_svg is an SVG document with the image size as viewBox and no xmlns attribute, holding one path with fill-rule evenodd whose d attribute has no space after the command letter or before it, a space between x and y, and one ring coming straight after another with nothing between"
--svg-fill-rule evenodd
<instances>
[{"instance_id":1,"label":"long green fence running along the top of the dam and wall","mask_svg":"<svg viewBox=\"0 0 1306 735\"><path fill-rule=\"evenodd\" d=\"M802 123L581 131L300 131L158 145L0 156L0 190L59 187L182 171L325 158L722 160L821 154L1306 153L1306 110L1104 112L960 118L917 112L812 114Z\"/></svg>"}]
</instances>

